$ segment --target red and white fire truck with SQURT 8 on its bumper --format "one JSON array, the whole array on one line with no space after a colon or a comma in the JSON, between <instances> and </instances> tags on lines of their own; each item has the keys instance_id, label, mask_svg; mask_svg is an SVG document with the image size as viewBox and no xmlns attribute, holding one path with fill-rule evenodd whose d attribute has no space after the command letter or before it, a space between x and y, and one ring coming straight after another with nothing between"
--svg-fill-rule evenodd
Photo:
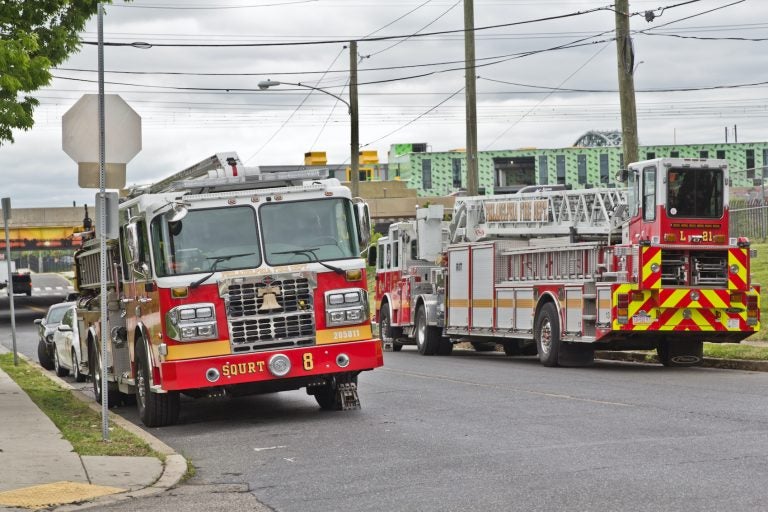
<instances>
[{"instance_id":1,"label":"red and white fire truck with SQURT 8 on its bumper","mask_svg":"<svg viewBox=\"0 0 768 512\"><path fill-rule=\"evenodd\" d=\"M360 406L358 374L383 362L360 257L370 217L338 180L262 174L221 153L132 190L119 234L106 297L98 240L75 255L78 364L97 401L106 300L106 396L135 396L147 426L175 423L182 393L306 388L323 409Z\"/></svg>"}]
</instances>

